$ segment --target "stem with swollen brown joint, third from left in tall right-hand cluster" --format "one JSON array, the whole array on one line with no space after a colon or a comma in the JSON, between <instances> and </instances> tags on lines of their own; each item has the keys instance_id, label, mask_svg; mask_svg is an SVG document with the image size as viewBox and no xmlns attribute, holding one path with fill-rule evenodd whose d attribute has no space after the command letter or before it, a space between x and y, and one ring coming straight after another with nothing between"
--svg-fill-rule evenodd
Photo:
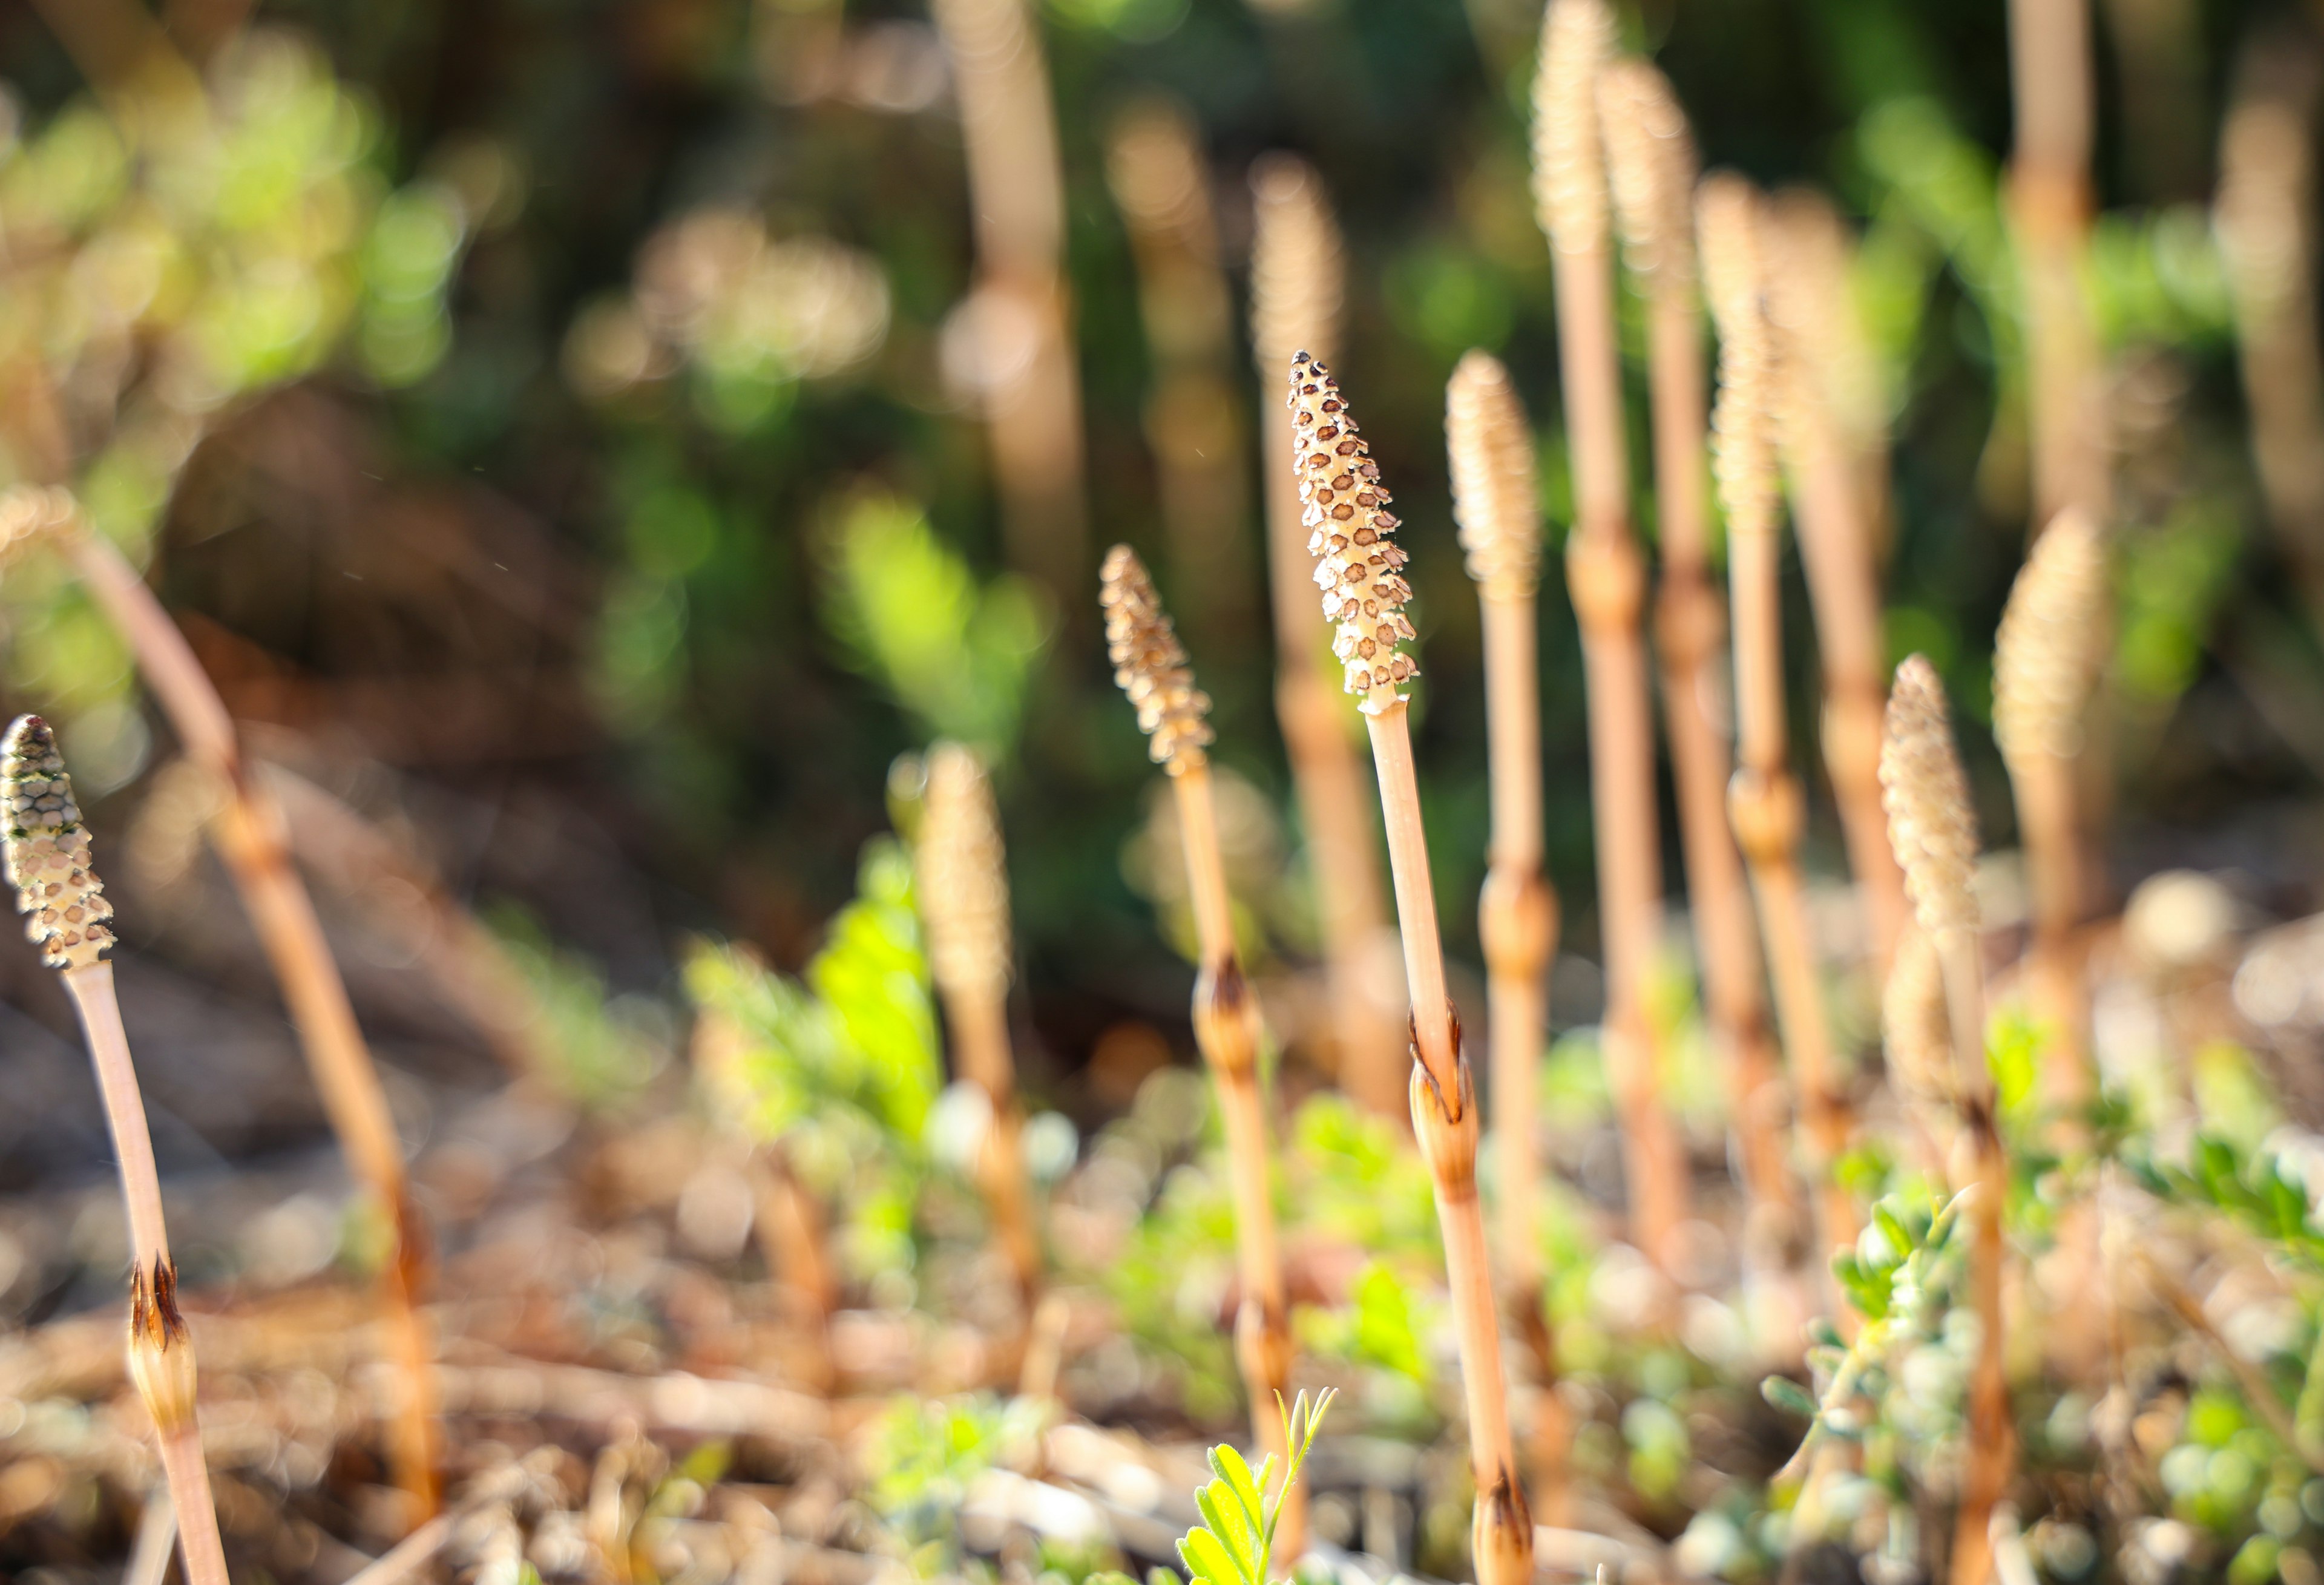
<instances>
[{"instance_id":1,"label":"stem with swollen brown joint, third from left in tall right-hand cluster","mask_svg":"<svg viewBox=\"0 0 2324 1585\"><path fill-rule=\"evenodd\" d=\"M1776 983L1776 1018L1792 1064L1799 1132L1817 1204L1820 1255L1857 1236L1857 1213L1834 1183L1831 1167L1848 1148L1848 1097L1831 1057L1831 1023L1815 967L1799 876L1799 839L1806 806L1789 769L1783 707L1783 595L1778 588L1778 542L1773 525L1731 525L1727 579L1734 602L1736 713L1743 767L1729 788L1729 818L1750 867ZM1822 1260L1815 1262L1822 1269Z\"/></svg>"}]
</instances>

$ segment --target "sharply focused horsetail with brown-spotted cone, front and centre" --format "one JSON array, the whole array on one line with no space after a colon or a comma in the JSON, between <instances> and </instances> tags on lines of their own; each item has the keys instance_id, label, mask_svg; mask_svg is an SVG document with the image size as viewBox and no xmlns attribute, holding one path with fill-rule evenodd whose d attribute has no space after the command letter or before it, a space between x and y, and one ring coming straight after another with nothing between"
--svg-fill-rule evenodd
<instances>
[{"instance_id":1,"label":"sharply focused horsetail with brown-spotted cone, front and centre","mask_svg":"<svg viewBox=\"0 0 2324 1585\"><path fill-rule=\"evenodd\" d=\"M1436 937L1436 885L1429 876L1420 786L1413 772L1408 700L1399 688L1418 674L1404 644L1413 623L1404 604L1406 555L1394 542L1399 521L1387 511L1380 467L1348 414L1329 370L1292 358L1292 435L1299 465L1308 553L1322 588L1325 621L1334 623L1332 651L1343 686L1360 700L1380 776L1380 818L1387 865L1397 883L1397 925L1404 934L1404 976L1413 997L1413 1134L1436 1188L1436 1220L1446 1241L1446 1278L1459 1334L1462 1385L1469 1406L1469 1457L1476 1473L1471 1545L1478 1585L1527 1585L1534 1573L1534 1522L1518 1485L1508 1434L1508 1390L1501 1371L1492 1257L1485 1211L1476 1188L1476 1085L1459 1046L1459 1018L1446 992L1443 944Z\"/></svg>"}]
</instances>

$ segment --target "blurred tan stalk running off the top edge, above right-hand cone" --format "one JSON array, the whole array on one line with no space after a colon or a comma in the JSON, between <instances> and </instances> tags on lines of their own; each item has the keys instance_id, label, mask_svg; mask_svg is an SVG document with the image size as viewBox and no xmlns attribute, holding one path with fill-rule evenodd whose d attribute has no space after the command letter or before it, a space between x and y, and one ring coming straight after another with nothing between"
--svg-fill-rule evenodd
<instances>
[{"instance_id":1,"label":"blurred tan stalk running off the top edge, above right-hand cone","mask_svg":"<svg viewBox=\"0 0 2324 1585\"><path fill-rule=\"evenodd\" d=\"M2027 309L2033 525L2075 507L2110 516L2106 370L2082 293L2089 246L2089 0L2010 0L2017 146L2010 218Z\"/></svg>"}]
</instances>

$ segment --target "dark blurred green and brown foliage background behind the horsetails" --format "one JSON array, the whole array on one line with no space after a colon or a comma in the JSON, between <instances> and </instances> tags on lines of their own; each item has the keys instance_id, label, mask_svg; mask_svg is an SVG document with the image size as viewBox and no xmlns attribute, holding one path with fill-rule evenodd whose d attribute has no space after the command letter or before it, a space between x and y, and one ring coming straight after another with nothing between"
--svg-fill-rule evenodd
<instances>
[{"instance_id":1,"label":"dark blurred green and brown foliage background behind the horsetails","mask_svg":"<svg viewBox=\"0 0 2324 1585\"><path fill-rule=\"evenodd\" d=\"M2271 906L2305 911L2324 874L2324 669L2264 528L2208 211L2222 112L2254 51L2301 58L2305 16L2096 12L2089 288L2122 490L2110 851L2122 878L2243 867ZM139 67L139 16L128 0L0 9L0 356L53 376L60 453L93 516L149 560L235 713L277 730L263 751L402 823L451 892L514 920L569 983L602 976L625 1027L674 1048L679 941L804 962L890 827L890 762L967 737L997 760L1027 1085L1088 1125L1125 1095L1076 1081L1109 1032L1190 1050L1190 967L1141 837L1155 772L1109 681L1095 588L1004 565L983 425L948 374L974 242L923 7L293 2L228 37L232 7L193 0L165 23L207 74L202 137L174 130L167 72ZM1483 697L1441 411L1462 351L1504 353L1562 535L1550 260L1525 153L1538 14L1046 0L1039 26L1069 205L1085 565L1095 581L1127 539L1157 567L1218 700L1218 758L1250 788L1229 788L1229 827L1253 944L1276 962L1308 958L1313 918L1271 641L1232 616L1232 579L1174 574L1143 425L1155 356L1106 139L1155 98L1195 119L1236 302L1250 163L1290 149L1325 177L1350 267L1339 372L1411 525L1443 925L1473 962ZM1996 207L2003 7L1652 0L1624 26L1676 81L1706 167L1817 186L1862 228L1857 309L1894 425L1892 648L1943 667L2006 846L1982 730L2027 530ZM1636 304L1624 314L1636 353ZM1276 386L1234 318L1248 456ZM16 476L40 472L21 435L9 446ZM1220 532L1250 579L1241 609L1264 611L1255 467L1246 502ZM1638 521L1650 532L1650 497ZM1545 565L1550 874L1564 951L1587 960L1580 655ZM1789 579L1796 753L1815 767L1813 632ZM53 569L12 572L0 604L7 707L65 723L100 830L146 830L172 748L125 655ZM1838 876L1829 788L1810 786L1810 869ZM1673 878L1676 858L1673 832ZM239 923L205 934L130 906L123 923L153 985L174 974L195 999L272 1018L263 974L221 946ZM358 971L367 1025L390 1062L458 1074L439 1048L469 1037L397 990L390 958ZM1587 971L1557 983L1557 1023L1587 1023ZM67 1027L30 969L7 990ZM232 1027L202 1037L195 1020L177 1039L223 1046ZM314 1127L290 1099L177 1104L225 1153ZM35 1139L37 1116L7 1125L19 1183L98 1148Z\"/></svg>"}]
</instances>

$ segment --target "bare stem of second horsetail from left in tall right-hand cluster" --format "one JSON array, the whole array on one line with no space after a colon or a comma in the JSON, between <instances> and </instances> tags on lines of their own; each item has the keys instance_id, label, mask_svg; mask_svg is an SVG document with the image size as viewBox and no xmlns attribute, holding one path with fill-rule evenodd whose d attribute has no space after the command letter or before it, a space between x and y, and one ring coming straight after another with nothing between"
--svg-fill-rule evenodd
<instances>
[{"instance_id":1,"label":"bare stem of second horsetail from left in tall right-hand cluster","mask_svg":"<svg viewBox=\"0 0 2324 1585\"><path fill-rule=\"evenodd\" d=\"M1703 328L1678 272L1652 277L1648 379L1655 416L1655 497L1662 518L1657 639L1662 697L1678 790L1678 837L1687 860L1703 999L1727 1060L1743 1192L1755 1206L1792 1204L1783 1146L1783 1064L1759 985L1759 934L1750 916L1743 855L1727 825L1734 772L1715 716L1710 658L1724 637L1724 604L1710 586L1710 497L1703 460Z\"/></svg>"}]
</instances>

